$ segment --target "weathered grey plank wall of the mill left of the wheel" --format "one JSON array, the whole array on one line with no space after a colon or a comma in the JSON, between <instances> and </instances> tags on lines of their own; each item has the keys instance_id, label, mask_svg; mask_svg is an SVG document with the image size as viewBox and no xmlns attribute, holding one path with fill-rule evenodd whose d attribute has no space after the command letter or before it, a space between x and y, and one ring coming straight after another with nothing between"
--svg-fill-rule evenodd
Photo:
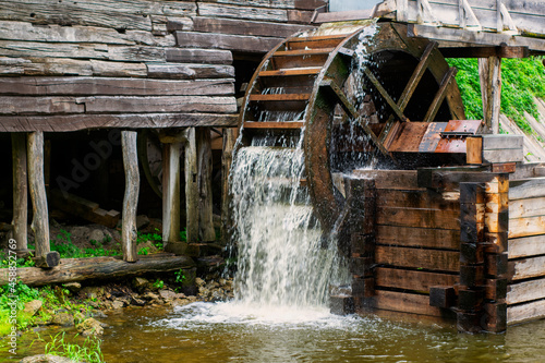
<instances>
[{"instance_id":1,"label":"weathered grey plank wall of the mill left of the wheel","mask_svg":"<svg viewBox=\"0 0 545 363\"><path fill-rule=\"evenodd\" d=\"M234 126L233 55L324 3L0 0L0 131Z\"/></svg>"}]
</instances>

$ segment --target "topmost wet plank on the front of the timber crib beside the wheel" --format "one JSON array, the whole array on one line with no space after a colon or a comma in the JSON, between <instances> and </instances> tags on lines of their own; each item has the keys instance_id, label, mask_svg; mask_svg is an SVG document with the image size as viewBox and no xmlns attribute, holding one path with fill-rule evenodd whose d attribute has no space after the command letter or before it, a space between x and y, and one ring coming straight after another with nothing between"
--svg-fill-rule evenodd
<instances>
[{"instance_id":1,"label":"topmost wet plank on the front of the timber crib beside the wheel","mask_svg":"<svg viewBox=\"0 0 545 363\"><path fill-rule=\"evenodd\" d=\"M421 190L416 170L354 170L353 176L375 180L375 187L395 190Z\"/></svg>"}]
</instances>

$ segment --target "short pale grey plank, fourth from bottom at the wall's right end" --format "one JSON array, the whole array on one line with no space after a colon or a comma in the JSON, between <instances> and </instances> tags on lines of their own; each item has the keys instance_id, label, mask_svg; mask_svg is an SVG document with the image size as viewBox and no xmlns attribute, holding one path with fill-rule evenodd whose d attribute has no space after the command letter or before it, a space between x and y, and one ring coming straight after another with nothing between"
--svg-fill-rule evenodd
<instances>
[{"instance_id":1,"label":"short pale grey plank, fourth from bottom at the wall's right end","mask_svg":"<svg viewBox=\"0 0 545 363\"><path fill-rule=\"evenodd\" d=\"M234 77L234 66L226 64L172 64L149 63L147 73L157 78L231 78Z\"/></svg>"}]
</instances>

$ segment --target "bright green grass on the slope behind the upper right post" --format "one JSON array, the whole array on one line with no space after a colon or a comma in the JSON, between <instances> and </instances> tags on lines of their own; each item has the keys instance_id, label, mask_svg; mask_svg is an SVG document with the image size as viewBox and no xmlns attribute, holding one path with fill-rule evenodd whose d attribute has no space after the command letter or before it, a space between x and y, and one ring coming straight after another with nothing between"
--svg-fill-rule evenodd
<instances>
[{"instance_id":1,"label":"bright green grass on the slope behind the upper right post","mask_svg":"<svg viewBox=\"0 0 545 363\"><path fill-rule=\"evenodd\" d=\"M543 57L501 60L501 112L512 119L519 128L531 133L524 111L537 118L533 98L545 98L545 68ZM447 59L458 69L456 81L460 87L468 119L483 119L481 84L476 59Z\"/></svg>"}]
</instances>

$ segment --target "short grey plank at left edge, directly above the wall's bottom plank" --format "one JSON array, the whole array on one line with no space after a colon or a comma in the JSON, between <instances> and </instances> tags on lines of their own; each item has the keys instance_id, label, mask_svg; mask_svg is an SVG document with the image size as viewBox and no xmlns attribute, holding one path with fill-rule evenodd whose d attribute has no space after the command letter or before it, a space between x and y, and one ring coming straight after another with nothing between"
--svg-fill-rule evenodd
<instances>
[{"instance_id":1,"label":"short grey plank at left edge, directly above the wall's bottom plank","mask_svg":"<svg viewBox=\"0 0 545 363\"><path fill-rule=\"evenodd\" d=\"M74 97L0 97L0 114L80 113L83 105L76 105Z\"/></svg>"}]
</instances>

